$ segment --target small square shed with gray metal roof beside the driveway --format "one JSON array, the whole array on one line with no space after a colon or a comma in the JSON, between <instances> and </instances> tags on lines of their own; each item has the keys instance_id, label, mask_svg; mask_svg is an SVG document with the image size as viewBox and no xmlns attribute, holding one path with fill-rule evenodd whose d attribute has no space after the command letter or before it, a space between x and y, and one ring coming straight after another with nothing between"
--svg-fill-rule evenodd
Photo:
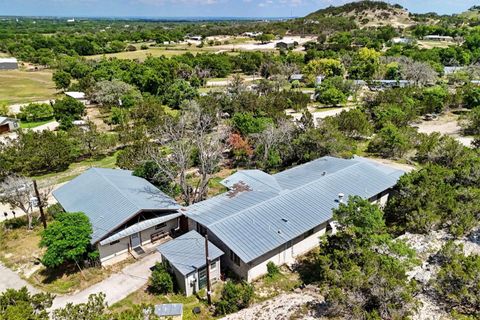
<instances>
[{"instance_id":1,"label":"small square shed with gray metal roof beside the driveway","mask_svg":"<svg viewBox=\"0 0 480 320\"><path fill-rule=\"evenodd\" d=\"M157 249L169 269L175 274L180 290L190 296L207 286L207 263L205 238L196 231L190 231L166 242ZM210 282L220 280L220 257L222 250L208 242L210 260Z\"/></svg>"}]
</instances>

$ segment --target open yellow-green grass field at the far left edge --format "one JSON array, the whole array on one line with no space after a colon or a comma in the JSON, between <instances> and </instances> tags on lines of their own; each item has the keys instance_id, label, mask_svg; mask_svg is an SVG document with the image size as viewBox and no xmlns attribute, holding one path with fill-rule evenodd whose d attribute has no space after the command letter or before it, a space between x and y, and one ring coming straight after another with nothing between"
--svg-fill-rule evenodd
<instances>
[{"instance_id":1,"label":"open yellow-green grass field at the far left edge","mask_svg":"<svg viewBox=\"0 0 480 320\"><path fill-rule=\"evenodd\" d=\"M50 71L0 71L0 103L15 104L55 97Z\"/></svg>"}]
</instances>

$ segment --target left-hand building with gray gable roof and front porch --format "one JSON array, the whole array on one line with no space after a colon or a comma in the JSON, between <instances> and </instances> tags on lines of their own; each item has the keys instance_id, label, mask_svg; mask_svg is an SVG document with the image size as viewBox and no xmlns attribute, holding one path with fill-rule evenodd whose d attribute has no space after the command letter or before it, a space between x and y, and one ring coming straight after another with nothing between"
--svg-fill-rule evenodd
<instances>
[{"instance_id":1,"label":"left-hand building with gray gable roof and front porch","mask_svg":"<svg viewBox=\"0 0 480 320\"><path fill-rule=\"evenodd\" d=\"M103 265L139 258L182 230L180 206L131 171L91 168L53 192L67 212L85 213ZM188 231L187 221L183 231Z\"/></svg>"}]
</instances>

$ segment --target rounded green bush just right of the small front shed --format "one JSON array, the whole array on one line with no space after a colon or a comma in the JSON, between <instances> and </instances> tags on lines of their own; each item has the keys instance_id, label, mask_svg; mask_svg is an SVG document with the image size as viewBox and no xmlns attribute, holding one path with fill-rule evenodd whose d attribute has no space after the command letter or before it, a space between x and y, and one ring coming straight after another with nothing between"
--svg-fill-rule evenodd
<instances>
[{"instance_id":1,"label":"rounded green bush just right of the small front shed","mask_svg":"<svg viewBox=\"0 0 480 320\"><path fill-rule=\"evenodd\" d=\"M222 296L215 304L216 313L225 315L237 312L250 305L253 298L253 286L246 282L238 284L227 281L223 287Z\"/></svg>"}]
</instances>

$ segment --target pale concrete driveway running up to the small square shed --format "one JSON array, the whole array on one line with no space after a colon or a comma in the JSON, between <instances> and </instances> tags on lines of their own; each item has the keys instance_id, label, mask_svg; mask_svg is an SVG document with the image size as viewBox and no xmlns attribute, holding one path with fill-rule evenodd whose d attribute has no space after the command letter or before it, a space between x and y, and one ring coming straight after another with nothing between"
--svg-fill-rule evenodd
<instances>
[{"instance_id":1,"label":"pale concrete driveway running up to the small square shed","mask_svg":"<svg viewBox=\"0 0 480 320\"><path fill-rule=\"evenodd\" d=\"M111 275L109 278L83 291L72 295L58 296L53 301L52 309L62 308L67 303L78 304L86 302L89 295L100 292L106 294L105 301L108 305L112 305L142 288L148 281L150 268L160 260L160 253L155 251L142 260L125 267L120 273Z\"/></svg>"}]
</instances>

